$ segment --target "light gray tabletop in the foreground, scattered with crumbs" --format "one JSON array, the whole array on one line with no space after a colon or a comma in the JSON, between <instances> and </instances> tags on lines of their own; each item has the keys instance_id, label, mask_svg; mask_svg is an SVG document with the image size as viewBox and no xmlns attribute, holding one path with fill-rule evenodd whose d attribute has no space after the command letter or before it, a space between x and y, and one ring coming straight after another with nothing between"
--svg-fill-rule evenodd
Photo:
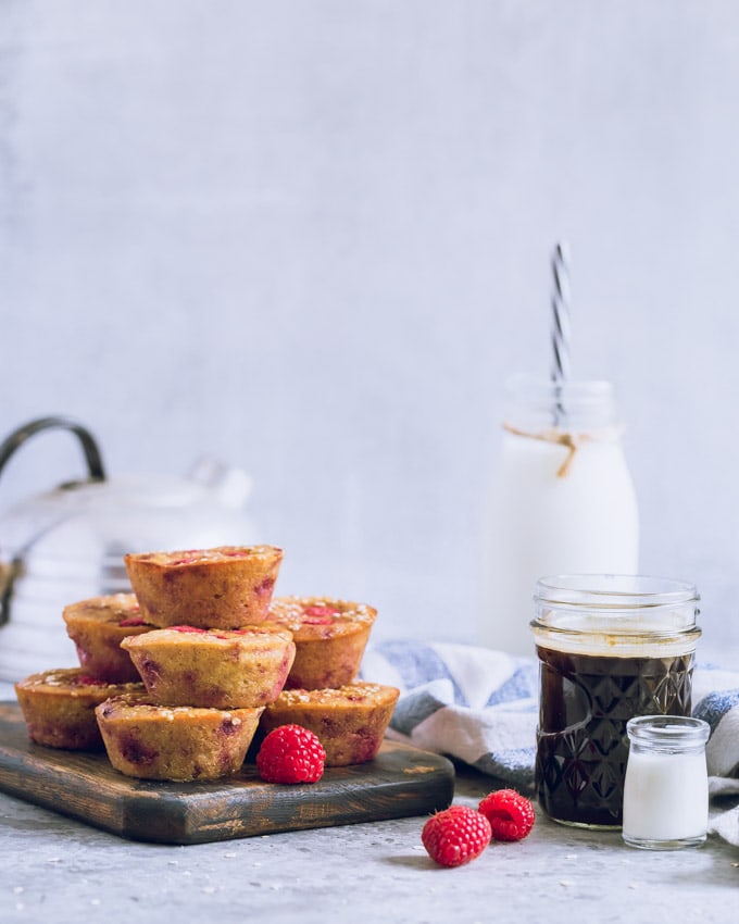
<instances>
[{"instance_id":1,"label":"light gray tabletop in the foreground, scattered with crumbs","mask_svg":"<svg viewBox=\"0 0 739 924\"><path fill-rule=\"evenodd\" d=\"M12 690L0 684L0 699ZM500 783L458 771L454 801ZM0 794L0 924L580 922L739 916L739 848L641 851L617 832L552 823L453 870L421 844L423 817L173 847L128 841Z\"/></svg>"}]
</instances>

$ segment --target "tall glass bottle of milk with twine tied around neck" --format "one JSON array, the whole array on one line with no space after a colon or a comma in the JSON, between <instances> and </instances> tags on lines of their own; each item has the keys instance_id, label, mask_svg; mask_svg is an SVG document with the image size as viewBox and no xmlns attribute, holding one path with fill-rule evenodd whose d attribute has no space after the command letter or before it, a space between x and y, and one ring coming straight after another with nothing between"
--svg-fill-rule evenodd
<instances>
[{"instance_id":1,"label":"tall glass bottle of milk with twine tied around neck","mask_svg":"<svg viewBox=\"0 0 739 924\"><path fill-rule=\"evenodd\" d=\"M517 377L485 526L480 640L533 655L529 622L546 574L636 574L639 516L608 382Z\"/></svg>"}]
</instances>

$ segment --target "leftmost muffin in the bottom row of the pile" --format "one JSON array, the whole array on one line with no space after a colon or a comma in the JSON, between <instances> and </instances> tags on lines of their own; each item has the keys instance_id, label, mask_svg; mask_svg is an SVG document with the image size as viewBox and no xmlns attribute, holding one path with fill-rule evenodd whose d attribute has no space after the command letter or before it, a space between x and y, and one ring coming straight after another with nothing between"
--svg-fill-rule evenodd
<instances>
[{"instance_id":1,"label":"leftmost muffin in the bottom row of the pile","mask_svg":"<svg viewBox=\"0 0 739 924\"><path fill-rule=\"evenodd\" d=\"M96 706L134 691L143 691L143 684L108 684L80 667L43 671L15 684L28 737L49 748L77 751L102 749Z\"/></svg>"}]
</instances>

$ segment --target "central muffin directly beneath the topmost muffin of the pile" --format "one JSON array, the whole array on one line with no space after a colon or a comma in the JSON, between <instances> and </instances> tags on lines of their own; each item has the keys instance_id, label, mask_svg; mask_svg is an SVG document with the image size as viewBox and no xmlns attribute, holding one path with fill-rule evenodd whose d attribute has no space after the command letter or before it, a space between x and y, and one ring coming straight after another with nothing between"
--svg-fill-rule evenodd
<instances>
[{"instance_id":1,"label":"central muffin directly beneath the topmost muffin of the pile","mask_svg":"<svg viewBox=\"0 0 739 924\"><path fill-rule=\"evenodd\" d=\"M154 702L216 709L273 702L296 647L287 629L172 626L124 639Z\"/></svg>"}]
</instances>

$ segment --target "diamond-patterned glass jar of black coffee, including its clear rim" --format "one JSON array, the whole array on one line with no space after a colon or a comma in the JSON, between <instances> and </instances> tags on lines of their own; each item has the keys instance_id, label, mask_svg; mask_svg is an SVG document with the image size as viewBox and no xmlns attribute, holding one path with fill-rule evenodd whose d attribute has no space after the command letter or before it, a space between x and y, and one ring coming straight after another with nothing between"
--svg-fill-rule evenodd
<instances>
[{"instance_id":1,"label":"diamond-patterned glass jar of black coffee, including its clear rim","mask_svg":"<svg viewBox=\"0 0 739 924\"><path fill-rule=\"evenodd\" d=\"M699 596L643 575L560 575L536 586L536 783L558 822L618 828L637 715L690 715Z\"/></svg>"}]
</instances>

